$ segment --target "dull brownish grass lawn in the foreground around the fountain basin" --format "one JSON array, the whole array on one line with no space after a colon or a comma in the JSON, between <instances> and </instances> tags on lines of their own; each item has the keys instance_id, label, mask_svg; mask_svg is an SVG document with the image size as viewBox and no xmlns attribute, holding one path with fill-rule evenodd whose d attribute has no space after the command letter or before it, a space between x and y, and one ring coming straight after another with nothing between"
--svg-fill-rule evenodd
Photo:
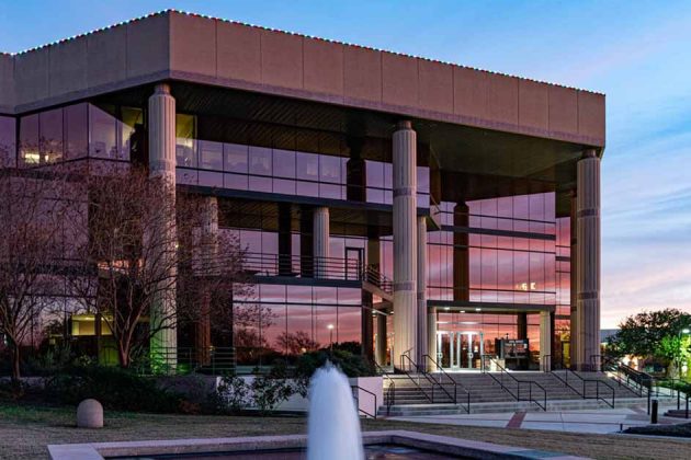
<instances>
[{"instance_id":1,"label":"dull brownish grass lawn in the foreground around the fountain basin","mask_svg":"<svg viewBox=\"0 0 691 460\"><path fill-rule=\"evenodd\" d=\"M158 415L106 412L105 427L75 428L72 407L0 403L0 459L47 458L49 444L259 436L306 433L299 417ZM601 459L689 459L691 442L616 435L364 421L363 429L408 429Z\"/></svg>"}]
</instances>

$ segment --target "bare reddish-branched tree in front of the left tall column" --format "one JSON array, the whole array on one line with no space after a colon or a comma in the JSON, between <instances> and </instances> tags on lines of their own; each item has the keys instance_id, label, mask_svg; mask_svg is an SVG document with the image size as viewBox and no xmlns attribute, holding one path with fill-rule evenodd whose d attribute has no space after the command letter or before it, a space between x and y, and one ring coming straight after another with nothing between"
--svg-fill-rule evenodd
<instances>
[{"instance_id":1,"label":"bare reddish-branched tree in front of the left tall column","mask_svg":"<svg viewBox=\"0 0 691 460\"><path fill-rule=\"evenodd\" d=\"M84 235L73 252L94 276L73 277L72 294L109 327L122 367L149 344L152 358L174 360L179 323L207 318L241 281L237 241L195 237L201 200L143 169L91 175L82 187Z\"/></svg>"}]
</instances>

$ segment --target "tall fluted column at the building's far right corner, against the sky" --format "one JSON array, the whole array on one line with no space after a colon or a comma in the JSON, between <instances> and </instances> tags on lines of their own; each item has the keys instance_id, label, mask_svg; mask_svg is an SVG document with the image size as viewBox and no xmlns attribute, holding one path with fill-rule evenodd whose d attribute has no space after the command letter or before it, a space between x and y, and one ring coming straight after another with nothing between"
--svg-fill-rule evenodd
<instances>
[{"instance_id":1,"label":"tall fluted column at the building's far right corner, against the sky","mask_svg":"<svg viewBox=\"0 0 691 460\"><path fill-rule=\"evenodd\" d=\"M600 159L587 150L578 161L577 285L578 364L600 368Z\"/></svg>"}]
</instances>

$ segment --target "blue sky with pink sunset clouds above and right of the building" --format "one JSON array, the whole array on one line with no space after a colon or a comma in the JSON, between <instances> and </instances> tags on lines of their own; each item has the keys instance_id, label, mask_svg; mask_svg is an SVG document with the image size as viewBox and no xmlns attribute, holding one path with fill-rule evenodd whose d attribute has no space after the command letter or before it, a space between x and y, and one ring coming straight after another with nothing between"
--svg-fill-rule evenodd
<instances>
[{"instance_id":1,"label":"blue sky with pink sunset clouds above and right of the building","mask_svg":"<svg viewBox=\"0 0 691 460\"><path fill-rule=\"evenodd\" d=\"M691 312L691 2L5 0L0 47L166 8L604 92L602 325Z\"/></svg>"}]
</instances>

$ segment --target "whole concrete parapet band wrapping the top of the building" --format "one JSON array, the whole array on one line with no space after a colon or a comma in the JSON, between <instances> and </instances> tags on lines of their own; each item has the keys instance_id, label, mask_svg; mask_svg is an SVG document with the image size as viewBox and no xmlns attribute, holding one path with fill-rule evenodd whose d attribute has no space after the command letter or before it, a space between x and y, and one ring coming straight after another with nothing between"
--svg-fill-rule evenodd
<instances>
[{"instance_id":1,"label":"whole concrete parapet band wrapping the top of the building","mask_svg":"<svg viewBox=\"0 0 691 460\"><path fill-rule=\"evenodd\" d=\"M173 78L604 145L602 94L172 11L11 59L18 112Z\"/></svg>"}]
</instances>

